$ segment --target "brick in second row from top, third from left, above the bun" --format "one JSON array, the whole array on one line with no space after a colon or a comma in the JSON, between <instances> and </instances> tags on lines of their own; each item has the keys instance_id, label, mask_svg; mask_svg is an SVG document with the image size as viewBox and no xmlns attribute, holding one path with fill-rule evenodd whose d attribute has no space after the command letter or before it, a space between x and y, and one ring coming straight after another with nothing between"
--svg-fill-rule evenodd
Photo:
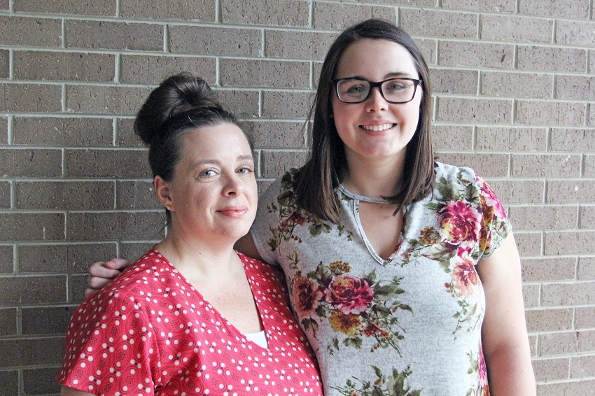
<instances>
[{"instance_id":1,"label":"brick in second row from top, third from left, above the bun","mask_svg":"<svg viewBox=\"0 0 595 396\"><path fill-rule=\"evenodd\" d=\"M174 54L258 57L261 48L262 36L259 29L183 25L169 27L169 49Z\"/></svg>"}]
</instances>

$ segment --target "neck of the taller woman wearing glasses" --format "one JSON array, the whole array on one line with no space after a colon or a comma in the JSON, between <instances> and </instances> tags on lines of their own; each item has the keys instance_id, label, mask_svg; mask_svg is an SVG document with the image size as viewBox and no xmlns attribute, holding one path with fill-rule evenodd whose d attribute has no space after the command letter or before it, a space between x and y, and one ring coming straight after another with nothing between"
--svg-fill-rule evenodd
<instances>
[{"instance_id":1,"label":"neck of the taller woman wearing glasses","mask_svg":"<svg viewBox=\"0 0 595 396\"><path fill-rule=\"evenodd\" d=\"M370 159L346 153L347 174L342 184L354 194L381 198L395 195L402 183L405 158Z\"/></svg>"}]
</instances>

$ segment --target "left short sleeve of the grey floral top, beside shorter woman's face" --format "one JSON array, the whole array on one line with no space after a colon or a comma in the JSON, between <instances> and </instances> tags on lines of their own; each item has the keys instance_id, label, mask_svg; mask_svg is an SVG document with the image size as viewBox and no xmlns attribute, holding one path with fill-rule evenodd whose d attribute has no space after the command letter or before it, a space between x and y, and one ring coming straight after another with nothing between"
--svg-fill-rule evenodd
<instances>
[{"instance_id":1,"label":"left short sleeve of the grey floral top, beside shorter woman's face","mask_svg":"<svg viewBox=\"0 0 595 396\"><path fill-rule=\"evenodd\" d=\"M287 177L287 175L283 177ZM275 232L279 230L281 223L280 191L281 178L278 178L258 197L258 211L256 211L256 218L250 229L260 257L264 262L274 265L279 264Z\"/></svg>"}]
</instances>

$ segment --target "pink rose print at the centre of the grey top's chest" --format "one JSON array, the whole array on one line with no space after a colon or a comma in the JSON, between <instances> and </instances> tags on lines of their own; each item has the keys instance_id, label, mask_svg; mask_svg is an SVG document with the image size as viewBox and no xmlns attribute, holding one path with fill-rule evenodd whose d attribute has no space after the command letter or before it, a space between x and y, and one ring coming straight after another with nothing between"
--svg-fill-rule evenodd
<instances>
[{"instance_id":1,"label":"pink rose print at the centre of the grey top's chest","mask_svg":"<svg viewBox=\"0 0 595 396\"><path fill-rule=\"evenodd\" d=\"M374 301L374 292L361 278L337 276L328 285L328 301L342 313L362 313Z\"/></svg>"}]
</instances>

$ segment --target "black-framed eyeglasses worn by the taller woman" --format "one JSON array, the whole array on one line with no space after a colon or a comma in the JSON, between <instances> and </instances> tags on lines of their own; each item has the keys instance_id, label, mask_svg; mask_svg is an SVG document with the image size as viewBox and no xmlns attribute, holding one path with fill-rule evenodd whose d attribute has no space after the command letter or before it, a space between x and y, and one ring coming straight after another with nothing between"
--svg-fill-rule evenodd
<instances>
[{"instance_id":1,"label":"black-framed eyeglasses worn by the taller woman","mask_svg":"<svg viewBox=\"0 0 595 396\"><path fill-rule=\"evenodd\" d=\"M388 78L383 81L368 81L363 78L337 78L332 80L337 98L344 103L360 103L365 101L372 88L378 87L386 101L394 104L407 103L415 97L417 86L421 80L415 78Z\"/></svg>"}]
</instances>

